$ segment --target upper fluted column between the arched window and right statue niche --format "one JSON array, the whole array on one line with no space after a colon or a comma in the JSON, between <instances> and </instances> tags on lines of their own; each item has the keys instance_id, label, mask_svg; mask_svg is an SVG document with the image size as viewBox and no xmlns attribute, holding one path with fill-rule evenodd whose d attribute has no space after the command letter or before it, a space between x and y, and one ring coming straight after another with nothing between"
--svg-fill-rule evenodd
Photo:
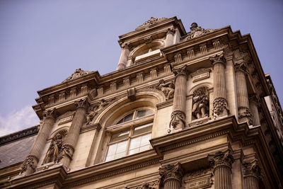
<instances>
[{"instance_id":1,"label":"upper fluted column between the arched window and right statue niche","mask_svg":"<svg viewBox=\"0 0 283 189\"><path fill-rule=\"evenodd\" d=\"M187 71L186 67L173 70L175 74L175 91L173 98L173 113L171 114L171 130L184 129L185 127L185 101Z\"/></svg>"}]
</instances>

